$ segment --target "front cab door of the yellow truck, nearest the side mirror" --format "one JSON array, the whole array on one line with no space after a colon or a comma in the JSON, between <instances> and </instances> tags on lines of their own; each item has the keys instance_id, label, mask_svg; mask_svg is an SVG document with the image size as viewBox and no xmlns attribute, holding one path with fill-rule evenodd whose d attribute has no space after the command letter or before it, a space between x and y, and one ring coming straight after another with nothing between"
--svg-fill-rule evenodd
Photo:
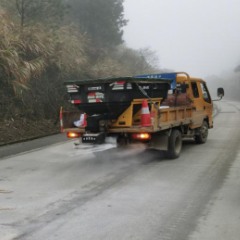
<instances>
[{"instance_id":1,"label":"front cab door of the yellow truck, nearest the side mirror","mask_svg":"<svg viewBox=\"0 0 240 240\"><path fill-rule=\"evenodd\" d=\"M201 87L200 96L203 100L202 101L203 109L205 111L205 115L208 116L209 126L211 127L213 125L213 123L212 123L212 110L213 110L212 99L211 99L211 96L209 94L206 84L200 82L200 87Z\"/></svg>"}]
</instances>

